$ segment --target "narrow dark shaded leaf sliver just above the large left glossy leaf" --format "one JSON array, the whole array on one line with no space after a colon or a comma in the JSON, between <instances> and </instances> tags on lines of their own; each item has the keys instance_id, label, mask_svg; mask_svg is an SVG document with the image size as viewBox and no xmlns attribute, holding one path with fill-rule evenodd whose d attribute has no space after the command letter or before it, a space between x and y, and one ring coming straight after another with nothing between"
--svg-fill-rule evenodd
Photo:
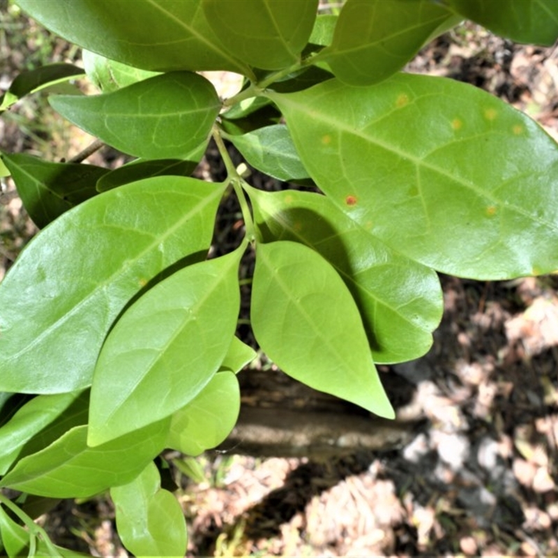
<instances>
[{"instance_id":1,"label":"narrow dark shaded leaf sliver just above the large left glossy leaf","mask_svg":"<svg viewBox=\"0 0 558 558\"><path fill-rule=\"evenodd\" d=\"M137 180L147 179L151 176L190 176L197 167L197 161L181 159L137 159L128 165L122 165L97 181L98 192L107 192Z\"/></svg>"}]
</instances>

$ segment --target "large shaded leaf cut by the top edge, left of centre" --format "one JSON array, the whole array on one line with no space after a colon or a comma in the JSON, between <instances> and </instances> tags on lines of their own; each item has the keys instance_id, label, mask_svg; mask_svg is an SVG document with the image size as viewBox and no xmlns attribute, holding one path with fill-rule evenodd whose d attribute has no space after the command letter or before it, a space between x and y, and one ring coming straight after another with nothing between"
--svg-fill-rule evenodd
<instances>
[{"instance_id":1,"label":"large shaded leaf cut by the top edge, left of centre","mask_svg":"<svg viewBox=\"0 0 558 558\"><path fill-rule=\"evenodd\" d=\"M17 0L71 43L144 70L251 75L207 24L201 0Z\"/></svg>"}]
</instances>

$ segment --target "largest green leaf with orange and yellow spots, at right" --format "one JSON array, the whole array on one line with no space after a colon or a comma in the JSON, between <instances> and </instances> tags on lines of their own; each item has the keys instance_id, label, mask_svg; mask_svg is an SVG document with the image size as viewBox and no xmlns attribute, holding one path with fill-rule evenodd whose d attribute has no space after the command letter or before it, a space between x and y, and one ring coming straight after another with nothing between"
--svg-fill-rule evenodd
<instances>
[{"instance_id":1,"label":"largest green leaf with orange and yellow spots, at right","mask_svg":"<svg viewBox=\"0 0 558 558\"><path fill-rule=\"evenodd\" d=\"M557 269L558 146L501 100L404 74L270 96L319 188L394 250L478 279Z\"/></svg>"}]
</instances>

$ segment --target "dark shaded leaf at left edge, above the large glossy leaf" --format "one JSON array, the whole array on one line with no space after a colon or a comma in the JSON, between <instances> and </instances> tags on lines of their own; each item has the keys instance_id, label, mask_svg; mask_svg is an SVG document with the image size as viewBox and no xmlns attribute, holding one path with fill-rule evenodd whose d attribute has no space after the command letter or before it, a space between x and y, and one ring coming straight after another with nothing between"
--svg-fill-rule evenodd
<instances>
[{"instance_id":1,"label":"dark shaded leaf at left edge, above the large glossy leaf","mask_svg":"<svg viewBox=\"0 0 558 558\"><path fill-rule=\"evenodd\" d=\"M25 153L2 153L27 213L46 227L62 213L93 197L97 181L110 169L77 163L50 163Z\"/></svg>"}]
</instances>

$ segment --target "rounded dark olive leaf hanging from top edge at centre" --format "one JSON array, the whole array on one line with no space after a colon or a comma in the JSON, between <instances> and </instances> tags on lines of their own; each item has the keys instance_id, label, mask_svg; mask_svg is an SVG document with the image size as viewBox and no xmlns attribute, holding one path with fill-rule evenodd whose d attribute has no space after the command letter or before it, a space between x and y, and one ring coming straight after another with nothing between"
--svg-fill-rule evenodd
<instances>
[{"instance_id":1,"label":"rounded dark olive leaf hanging from top edge at centre","mask_svg":"<svg viewBox=\"0 0 558 558\"><path fill-rule=\"evenodd\" d=\"M209 25L233 56L256 68L278 70L300 60L317 0L202 0Z\"/></svg>"}]
</instances>

